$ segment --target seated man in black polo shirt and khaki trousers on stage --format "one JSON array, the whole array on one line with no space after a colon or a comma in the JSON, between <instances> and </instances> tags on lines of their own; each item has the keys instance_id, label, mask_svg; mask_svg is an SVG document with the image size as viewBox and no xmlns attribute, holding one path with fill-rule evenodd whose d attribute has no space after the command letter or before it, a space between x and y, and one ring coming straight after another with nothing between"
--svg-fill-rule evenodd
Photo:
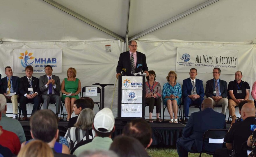
<instances>
[{"instance_id":1,"label":"seated man in black polo shirt and khaki trousers on stage","mask_svg":"<svg viewBox=\"0 0 256 157\"><path fill-rule=\"evenodd\" d=\"M250 86L247 82L242 81L243 74L241 71L235 73L235 80L228 83L228 109L229 114L232 118L231 124L237 119L235 113L235 107L240 101L247 100L249 103L254 103L252 100L249 100L250 96Z\"/></svg>"}]
</instances>

